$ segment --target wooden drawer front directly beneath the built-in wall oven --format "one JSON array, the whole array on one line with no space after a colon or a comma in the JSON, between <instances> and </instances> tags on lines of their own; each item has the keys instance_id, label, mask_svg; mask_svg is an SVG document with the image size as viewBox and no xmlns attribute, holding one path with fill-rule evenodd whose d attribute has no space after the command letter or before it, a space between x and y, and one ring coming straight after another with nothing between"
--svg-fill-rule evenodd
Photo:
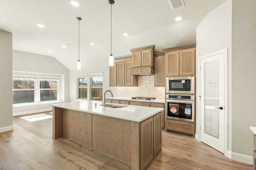
<instances>
[{"instance_id":1,"label":"wooden drawer front directly beneath the built-in wall oven","mask_svg":"<svg viewBox=\"0 0 256 170\"><path fill-rule=\"evenodd\" d=\"M165 118L165 130L177 131L182 133L195 134L195 123Z\"/></svg>"}]
</instances>

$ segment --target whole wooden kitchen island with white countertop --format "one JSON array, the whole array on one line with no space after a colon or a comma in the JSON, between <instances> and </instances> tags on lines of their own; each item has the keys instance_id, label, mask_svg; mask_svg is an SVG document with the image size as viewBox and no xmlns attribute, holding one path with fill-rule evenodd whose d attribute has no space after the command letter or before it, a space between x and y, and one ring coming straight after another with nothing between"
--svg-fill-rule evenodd
<instances>
[{"instance_id":1,"label":"whole wooden kitchen island with white countertop","mask_svg":"<svg viewBox=\"0 0 256 170\"><path fill-rule=\"evenodd\" d=\"M93 101L52 105L52 138L71 139L126 162L133 170L148 168L162 149L163 109L100 105Z\"/></svg>"}]
</instances>

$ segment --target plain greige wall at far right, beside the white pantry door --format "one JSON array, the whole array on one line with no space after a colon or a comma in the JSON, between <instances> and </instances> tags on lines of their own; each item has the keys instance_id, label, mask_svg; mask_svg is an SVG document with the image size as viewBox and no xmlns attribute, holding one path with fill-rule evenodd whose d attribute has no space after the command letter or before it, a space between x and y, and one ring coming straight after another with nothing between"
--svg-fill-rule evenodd
<instances>
[{"instance_id":1,"label":"plain greige wall at far right, beside the white pantry door","mask_svg":"<svg viewBox=\"0 0 256 170\"><path fill-rule=\"evenodd\" d=\"M252 156L256 126L256 0L232 1L232 152Z\"/></svg>"}]
</instances>

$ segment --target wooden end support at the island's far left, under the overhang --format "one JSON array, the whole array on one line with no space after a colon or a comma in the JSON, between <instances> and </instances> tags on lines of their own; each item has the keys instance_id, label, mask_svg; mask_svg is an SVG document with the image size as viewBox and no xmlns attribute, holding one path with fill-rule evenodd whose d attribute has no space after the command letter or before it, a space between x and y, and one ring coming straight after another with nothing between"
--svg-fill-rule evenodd
<instances>
[{"instance_id":1,"label":"wooden end support at the island's far left, under the overhang","mask_svg":"<svg viewBox=\"0 0 256 170\"><path fill-rule=\"evenodd\" d=\"M63 137L63 109L52 107L52 138L58 139Z\"/></svg>"}]
</instances>

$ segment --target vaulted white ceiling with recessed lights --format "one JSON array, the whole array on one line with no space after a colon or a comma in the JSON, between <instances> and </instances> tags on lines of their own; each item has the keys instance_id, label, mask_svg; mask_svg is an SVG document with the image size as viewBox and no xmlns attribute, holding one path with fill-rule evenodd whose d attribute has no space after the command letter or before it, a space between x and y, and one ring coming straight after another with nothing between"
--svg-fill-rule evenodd
<instances>
[{"instance_id":1,"label":"vaulted white ceiling with recessed lights","mask_svg":"<svg viewBox=\"0 0 256 170\"><path fill-rule=\"evenodd\" d=\"M0 29L13 34L13 49L54 57L73 70L106 66L110 55L108 0L0 0ZM115 0L112 5L112 54L131 57L130 49L155 45L162 49L196 42L196 27L204 16L226 0L184 0L185 7L172 10L168 0ZM182 21L175 21L182 16ZM44 28L37 26L45 25ZM122 33L129 35L124 37ZM95 43L94 46L89 43ZM75 45L62 48L64 43ZM48 50L52 50L49 53Z\"/></svg>"}]
</instances>

